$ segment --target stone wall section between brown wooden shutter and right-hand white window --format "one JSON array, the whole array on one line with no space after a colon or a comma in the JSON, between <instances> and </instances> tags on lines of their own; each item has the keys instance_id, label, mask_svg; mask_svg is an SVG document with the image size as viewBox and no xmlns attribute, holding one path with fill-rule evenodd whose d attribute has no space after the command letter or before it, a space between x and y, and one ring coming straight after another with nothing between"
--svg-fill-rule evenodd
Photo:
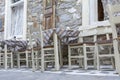
<instances>
[{"instance_id":1,"label":"stone wall section between brown wooden shutter and right-hand white window","mask_svg":"<svg viewBox=\"0 0 120 80\"><path fill-rule=\"evenodd\" d=\"M57 27L77 28L82 23L81 0L61 0L56 5Z\"/></svg>"}]
</instances>

